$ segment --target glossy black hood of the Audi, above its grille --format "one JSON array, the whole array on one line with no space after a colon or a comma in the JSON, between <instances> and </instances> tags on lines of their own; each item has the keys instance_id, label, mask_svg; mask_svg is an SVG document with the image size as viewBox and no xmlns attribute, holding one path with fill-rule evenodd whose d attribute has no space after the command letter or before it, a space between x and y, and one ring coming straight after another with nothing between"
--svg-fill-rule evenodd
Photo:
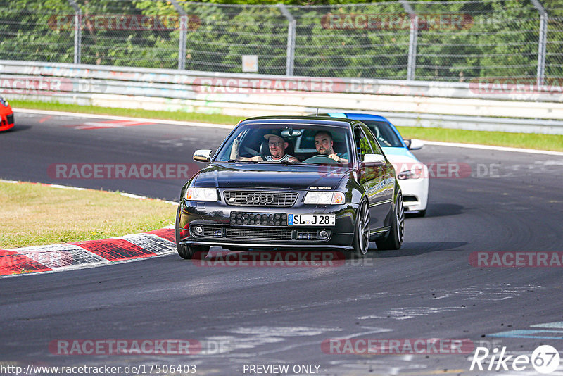
<instances>
[{"instance_id":1,"label":"glossy black hood of the Audi, above its grille","mask_svg":"<svg viewBox=\"0 0 563 376\"><path fill-rule=\"evenodd\" d=\"M196 175L193 185L219 188L336 189L350 170L348 166L213 163Z\"/></svg>"}]
</instances>

